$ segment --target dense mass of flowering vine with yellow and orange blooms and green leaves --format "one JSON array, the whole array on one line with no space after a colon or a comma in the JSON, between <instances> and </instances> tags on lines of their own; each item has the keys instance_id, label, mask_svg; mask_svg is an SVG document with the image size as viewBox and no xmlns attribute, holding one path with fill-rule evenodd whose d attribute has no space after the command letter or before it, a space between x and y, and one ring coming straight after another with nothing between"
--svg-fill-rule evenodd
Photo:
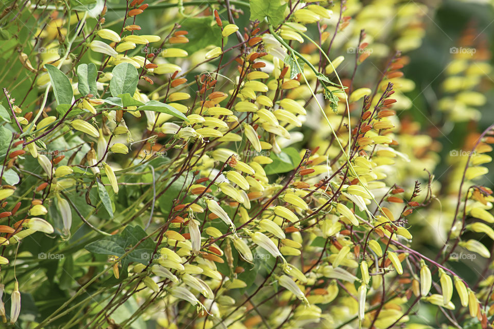
<instances>
[{"instance_id":1,"label":"dense mass of flowering vine with yellow and orange blooms and green leaves","mask_svg":"<svg viewBox=\"0 0 494 329\"><path fill-rule=\"evenodd\" d=\"M39 29L15 61L30 86L0 105L4 322L425 328L422 304L491 325L493 126L442 189L440 144L399 116L425 5L143 3L29 8ZM471 39L438 102L452 122L486 102ZM438 231L412 237L424 218ZM485 261L477 284L460 250Z\"/></svg>"}]
</instances>

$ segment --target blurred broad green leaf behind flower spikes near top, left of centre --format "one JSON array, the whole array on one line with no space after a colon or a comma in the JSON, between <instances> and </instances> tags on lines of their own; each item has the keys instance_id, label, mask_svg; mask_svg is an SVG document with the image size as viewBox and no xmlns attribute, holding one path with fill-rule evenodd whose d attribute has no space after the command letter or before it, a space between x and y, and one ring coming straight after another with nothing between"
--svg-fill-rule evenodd
<instances>
[{"instance_id":1,"label":"blurred broad green leaf behind flower spikes near top, left of centre","mask_svg":"<svg viewBox=\"0 0 494 329\"><path fill-rule=\"evenodd\" d=\"M189 42L174 45L175 47L192 53L210 45L221 45L221 29L211 17L186 18L180 22L180 25L181 29L189 32L187 34Z\"/></svg>"}]
</instances>

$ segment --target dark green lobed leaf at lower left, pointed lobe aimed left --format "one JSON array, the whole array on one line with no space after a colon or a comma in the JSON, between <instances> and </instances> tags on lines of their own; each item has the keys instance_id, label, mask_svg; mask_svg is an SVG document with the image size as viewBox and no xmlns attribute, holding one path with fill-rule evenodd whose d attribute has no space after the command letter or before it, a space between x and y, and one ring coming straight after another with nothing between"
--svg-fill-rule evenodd
<instances>
[{"instance_id":1,"label":"dark green lobed leaf at lower left, pointed lobe aimed left","mask_svg":"<svg viewBox=\"0 0 494 329\"><path fill-rule=\"evenodd\" d=\"M129 225L120 234L105 236L98 241L86 245L85 249L93 253L121 257L146 236L147 234L142 227ZM148 264L154 252L154 247L155 244L152 239L146 239L125 258L129 262Z\"/></svg>"}]
</instances>

